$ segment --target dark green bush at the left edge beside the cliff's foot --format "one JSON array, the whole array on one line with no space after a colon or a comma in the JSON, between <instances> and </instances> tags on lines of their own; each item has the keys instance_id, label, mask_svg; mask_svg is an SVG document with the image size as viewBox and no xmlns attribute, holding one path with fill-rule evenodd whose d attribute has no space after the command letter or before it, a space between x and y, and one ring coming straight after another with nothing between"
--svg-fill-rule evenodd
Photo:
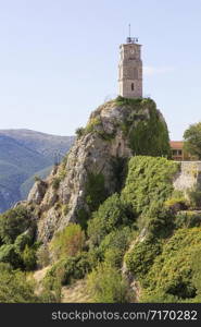
<instances>
[{"instance_id":1,"label":"dark green bush at the left edge beside the cliff's foot","mask_svg":"<svg viewBox=\"0 0 201 327\"><path fill-rule=\"evenodd\" d=\"M13 243L29 226L29 214L23 206L0 215L0 237L7 244Z\"/></svg>"}]
</instances>

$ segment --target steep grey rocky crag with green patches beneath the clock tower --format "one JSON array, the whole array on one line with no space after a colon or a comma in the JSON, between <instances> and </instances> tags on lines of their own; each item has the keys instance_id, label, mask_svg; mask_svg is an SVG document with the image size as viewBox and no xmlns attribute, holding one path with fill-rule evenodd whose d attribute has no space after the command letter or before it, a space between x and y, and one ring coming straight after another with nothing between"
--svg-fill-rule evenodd
<instances>
[{"instance_id":1,"label":"steep grey rocky crag with green patches beneath the clock tower","mask_svg":"<svg viewBox=\"0 0 201 327\"><path fill-rule=\"evenodd\" d=\"M151 99L118 97L95 110L67 157L46 181L38 180L24 205L47 242L70 221L85 227L91 211L124 183L127 158L168 156L165 121Z\"/></svg>"}]
</instances>

